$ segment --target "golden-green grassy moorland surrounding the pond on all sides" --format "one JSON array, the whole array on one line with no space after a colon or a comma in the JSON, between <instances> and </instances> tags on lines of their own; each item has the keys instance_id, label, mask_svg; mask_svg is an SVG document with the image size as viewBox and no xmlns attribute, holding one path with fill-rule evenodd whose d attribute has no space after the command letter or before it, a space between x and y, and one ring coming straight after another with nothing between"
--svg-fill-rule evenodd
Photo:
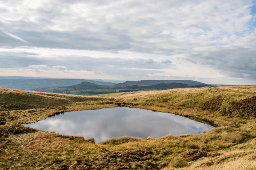
<instances>
[{"instance_id":1,"label":"golden-green grassy moorland surrounding the pond on all sides","mask_svg":"<svg viewBox=\"0 0 256 170\"><path fill-rule=\"evenodd\" d=\"M0 88L0 169L255 169L256 86L77 96ZM213 125L202 134L94 139L22 126L64 111L130 106Z\"/></svg>"}]
</instances>

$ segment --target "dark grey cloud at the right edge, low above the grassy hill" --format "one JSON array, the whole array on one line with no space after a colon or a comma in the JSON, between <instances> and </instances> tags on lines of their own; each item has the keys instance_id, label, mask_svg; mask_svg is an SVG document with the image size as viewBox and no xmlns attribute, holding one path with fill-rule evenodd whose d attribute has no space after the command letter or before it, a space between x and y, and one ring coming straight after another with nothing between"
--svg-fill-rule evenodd
<instances>
[{"instance_id":1,"label":"dark grey cloud at the right edge, low above the grassy hill","mask_svg":"<svg viewBox=\"0 0 256 170\"><path fill-rule=\"evenodd\" d=\"M191 55L185 60L200 65L209 65L211 68L224 71L230 77L243 78L247 74L247 78L255 78L256 74L256 53L255 49L246 50L244 47L237 47L236 49L230 47L218 47L210 50L202 56ZM234 55L235 54L235 55ZM196 61L194 59L197 59Z\"/></svg>"}]
</instances>

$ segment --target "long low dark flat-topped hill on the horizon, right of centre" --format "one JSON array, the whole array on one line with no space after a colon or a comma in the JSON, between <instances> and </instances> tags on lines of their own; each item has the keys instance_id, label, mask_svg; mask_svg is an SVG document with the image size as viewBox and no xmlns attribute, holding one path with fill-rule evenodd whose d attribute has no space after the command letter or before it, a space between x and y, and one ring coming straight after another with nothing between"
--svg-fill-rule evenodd
<instances>
[{"instance_id":1,"label":"long low dark flat-topped hill on the horizon, right of centre","mask_svg":"<svg viewBox=\"0 0 256 170\"><path fill-rule=\"evenodd\" d=\"M183 83L187 85L206 85L204 83L193 81L193 80L140 80L140 81L126 81L124 83L118 83L113 85L113 87L125 87L125 86L153 86L157 84L170 84L170 83Z\"/></svg>"}]
</instances>

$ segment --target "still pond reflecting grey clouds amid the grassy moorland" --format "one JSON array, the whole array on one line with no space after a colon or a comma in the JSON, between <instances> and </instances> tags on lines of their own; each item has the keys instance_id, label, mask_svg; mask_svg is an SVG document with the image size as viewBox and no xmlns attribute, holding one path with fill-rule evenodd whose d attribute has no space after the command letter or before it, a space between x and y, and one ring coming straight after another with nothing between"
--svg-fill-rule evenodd
<instances>
[{"instance_id":1,"label":"still pond reflecting grey clouds amid the grassy moorland","mask_svg":"<svg viewBox=\"0 0 256 170\"><path fill-rule=\"evenodd\" d=\"M167 134L198 134L213 126L172 113L130 107L70 111L25 126L65 135L82 135L100 143L109 138L132 136L146 139Z\"/></svg>"}]
</instances>

